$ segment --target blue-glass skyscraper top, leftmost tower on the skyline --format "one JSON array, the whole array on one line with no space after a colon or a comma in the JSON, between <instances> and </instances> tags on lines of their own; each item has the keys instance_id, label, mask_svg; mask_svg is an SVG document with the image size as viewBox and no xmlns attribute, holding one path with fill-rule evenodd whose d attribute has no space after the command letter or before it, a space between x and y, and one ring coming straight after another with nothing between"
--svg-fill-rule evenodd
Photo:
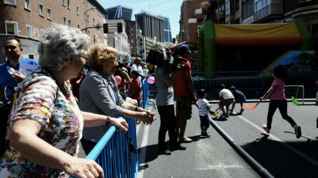
<instances>
[{"instance_id":1,"label":"blue-glass skyscraper top, leftmost tower on the skyline","mask_svg":"<svg viewBox=\"0 0 318 178\"><path fill-rule=\"evenodd\" d=\"M132 8L124 6L115 6L107 8L106 11L108 12L107 19L127 18L129 21L131 21Z\"/></svg>"}]
</instances>

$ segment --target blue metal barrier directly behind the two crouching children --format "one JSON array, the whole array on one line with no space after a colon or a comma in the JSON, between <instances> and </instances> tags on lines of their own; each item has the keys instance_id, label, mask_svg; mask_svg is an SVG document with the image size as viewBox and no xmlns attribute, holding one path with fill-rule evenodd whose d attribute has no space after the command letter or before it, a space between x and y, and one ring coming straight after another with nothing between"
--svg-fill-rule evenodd
<instances>
[{"instance_id":1,"label":"blue metal barrier directly behind the two crouching children","mask_svg":"<svg viewBox=\"0 0 318 178\"><path fill-rule=\"evenodd\" d=\"M225 88L234 86L236 89L263 89L265 73L263 71L236 71L236 72L211 72L210 89L218 90L218 85L224 84Z\"/></svg>"}]
</instances>

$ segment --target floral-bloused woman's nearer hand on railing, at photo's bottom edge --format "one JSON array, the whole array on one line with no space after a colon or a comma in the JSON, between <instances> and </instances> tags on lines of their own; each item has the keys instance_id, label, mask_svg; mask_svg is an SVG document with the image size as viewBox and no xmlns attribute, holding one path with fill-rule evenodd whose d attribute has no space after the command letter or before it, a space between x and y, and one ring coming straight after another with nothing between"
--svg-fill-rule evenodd
<instances>
[{"instance_id":1,"label":"floral-bloused woman's nearer hand on railing, at photo's bottom edge","mask_svg":"<svg viewBox=\"0 0 318 178\"><path fill-rule=\"evenodd\" d=\"M95 161L76 157L68 160L64 171L74 177L104 177L103 168Z\"/></svg>"}]
</instances>

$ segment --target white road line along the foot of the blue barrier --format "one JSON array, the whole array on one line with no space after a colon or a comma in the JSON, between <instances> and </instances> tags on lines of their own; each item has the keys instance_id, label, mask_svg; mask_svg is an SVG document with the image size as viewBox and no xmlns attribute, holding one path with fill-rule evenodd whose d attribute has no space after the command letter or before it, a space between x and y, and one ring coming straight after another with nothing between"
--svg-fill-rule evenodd
<instances>
[{"instance_id":1,"label":"white road line along the foot of the blue barrier","mask_svg":"<svg viewBox=\"0 0 318 178\"><path fill-rule=\"evenodd\" d=\"M149 111L152 110L152 106L148 108ZM141 125L141 124L139 124ZM141 150L139 153L138 157L138 173L137 173L137 178L143 178L144 177L144 166L145 166L145 161L146 161L146 154L147 154L147 145L148 145L148 135L149 135L149 127L150 125L146 126L144 125L144 134L142 138L142 145L141 145ZM139 129L137 130L138 134Z\"/></svg>"}]
</instances>

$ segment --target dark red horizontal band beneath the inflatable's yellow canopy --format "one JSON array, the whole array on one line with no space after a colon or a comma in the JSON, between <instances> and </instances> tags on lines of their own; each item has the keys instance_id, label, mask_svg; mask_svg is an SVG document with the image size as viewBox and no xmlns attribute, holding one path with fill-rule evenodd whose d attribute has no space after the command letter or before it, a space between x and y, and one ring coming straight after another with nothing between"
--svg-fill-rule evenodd
<instances>
[{"instance_id":1,"label":"dark red horizontal band beneath the inflatable's yellow canopy","mask_svg":"<svg viewBox=\"0 0 318 178\"><path fill-rule=\"evenodd\" d=\"M216 46L300 46L305 37L215 37Z\"/></svg>"}]
</instances>

